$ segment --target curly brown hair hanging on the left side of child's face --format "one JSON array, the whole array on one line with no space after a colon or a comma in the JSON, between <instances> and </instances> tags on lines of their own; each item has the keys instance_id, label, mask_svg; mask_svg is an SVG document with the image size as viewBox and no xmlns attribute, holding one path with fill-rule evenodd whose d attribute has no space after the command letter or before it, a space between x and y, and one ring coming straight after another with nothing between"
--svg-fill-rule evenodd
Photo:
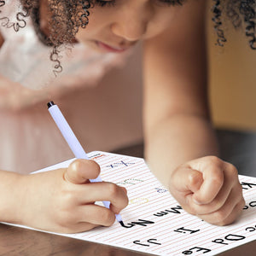
<instances>
[{"instance_id":1,"label":"curly brown hair hanging on the left side of child's face","mask_svg":"<svg viewBox=\"0 0 256 256\"><path fill-rule=\"evenodd\" d=\"M22 10L16 14L16 21L11 22L8 17L2 17L1 25L13 27L15 32L26 26L26 17L32 17L34 29L39 40L45 45L52 46L50 60L55 63L53 72L55 76L61 73L61 52L62 44L73 44L75 35L79 27L85 28L88 24L89 9L93 6L92 0L50 0L48 3L49 10L49 34L45 35L40 29L39 1L20 0ZM0 0L0 8L5 4ZM1 10L0 10L1 13Z\"/></svg>"}]
</instances>

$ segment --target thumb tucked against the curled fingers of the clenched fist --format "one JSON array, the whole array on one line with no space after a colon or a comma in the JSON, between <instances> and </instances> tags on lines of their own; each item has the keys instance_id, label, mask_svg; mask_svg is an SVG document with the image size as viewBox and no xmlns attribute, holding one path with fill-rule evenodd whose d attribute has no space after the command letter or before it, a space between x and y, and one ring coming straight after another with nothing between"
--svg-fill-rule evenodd
<instances>
[{"instance_id":1,"label":"thumb tucked against the curled fingers of the clenched fist","mask_svg":"<svg viewBox=\"0 0 256 256\"><path fill-rule=\"evenodd\" d=\"M203 183L202 173L189 167L180 167L172 177L173 186L180 192L195 193Z\"/></svg>"}]
</instances>

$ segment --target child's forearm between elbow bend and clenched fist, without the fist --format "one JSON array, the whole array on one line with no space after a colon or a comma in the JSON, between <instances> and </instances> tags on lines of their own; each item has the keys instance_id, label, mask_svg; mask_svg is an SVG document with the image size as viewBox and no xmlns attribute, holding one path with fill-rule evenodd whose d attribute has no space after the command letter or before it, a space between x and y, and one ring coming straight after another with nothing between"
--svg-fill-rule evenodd
<instances>
[{"instance_id":1,"label":"child's forearm between elbow bend and clenched fist, without the fist","mask_svg":"<svg viewBox=\"0 0 256 256\"><path fill-rule=\"evenodd\" d=\"M166 187L177 166L205 155L218 155L218 143L210 122L198 116L173 115L145 137L148 165Z\"/></svg>"}]
</instances>

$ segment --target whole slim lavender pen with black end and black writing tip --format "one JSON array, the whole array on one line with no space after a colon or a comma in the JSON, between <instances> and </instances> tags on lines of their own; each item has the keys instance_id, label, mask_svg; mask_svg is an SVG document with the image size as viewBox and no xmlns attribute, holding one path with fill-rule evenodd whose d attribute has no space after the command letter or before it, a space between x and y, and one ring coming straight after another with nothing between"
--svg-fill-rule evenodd
<instances>
[{"instance_id":1,"label":"whole slim lavender pen with black end and black writing tip","mask_svg":"<svg viewBox=\"0 0 256 256\"><path fill-rule=\"evenodd\" d=\"M74 135L72 129L68 125L67 120L64 118L63 114L61 113L60 108L58 108L58 106L55 105L54 102L48 102L47 106L48 106L48 110L51 117L54 119L55 124L60 129L62 136L65 138L69 148L71 148L75 157L79 159L89 160L89 157L85 153L84 148L79 143L79 140ZM94 179L90 179L90 182L99 183L99 182L102 182L102 178L98 176ZM103 202L103 205L109 209L110 202L109 201L102 201L102 202ZM120 214L115 214L115 218L121 225L124 225Z\"/></svg>"}]
</instances>

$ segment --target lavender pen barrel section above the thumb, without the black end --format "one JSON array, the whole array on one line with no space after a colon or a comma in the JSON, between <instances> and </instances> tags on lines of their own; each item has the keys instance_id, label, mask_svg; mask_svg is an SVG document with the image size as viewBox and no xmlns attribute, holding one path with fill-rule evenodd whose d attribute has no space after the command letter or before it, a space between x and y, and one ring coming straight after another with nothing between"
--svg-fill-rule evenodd
<instances>
[{"instance_id":1,"label":"lavender pen barrel section above the thumb, without the black end","mask_svg":"<svg viewBox=\"0 0 256 256\"><path fill-rule=\"evenodd\" d=\"M53 105L48 110L52 118L55 120L55 124L60 129L62 136L65 138L67 144L69 145L69 148L71 148L71 150L73 151L75 157L89 160L89 157L85 153L84 148L79 143L79 140L74 135L72 129L68 125L67 120L61 113L60 108L58 108L57 105Z\"/></svg>"}]
</instances>

